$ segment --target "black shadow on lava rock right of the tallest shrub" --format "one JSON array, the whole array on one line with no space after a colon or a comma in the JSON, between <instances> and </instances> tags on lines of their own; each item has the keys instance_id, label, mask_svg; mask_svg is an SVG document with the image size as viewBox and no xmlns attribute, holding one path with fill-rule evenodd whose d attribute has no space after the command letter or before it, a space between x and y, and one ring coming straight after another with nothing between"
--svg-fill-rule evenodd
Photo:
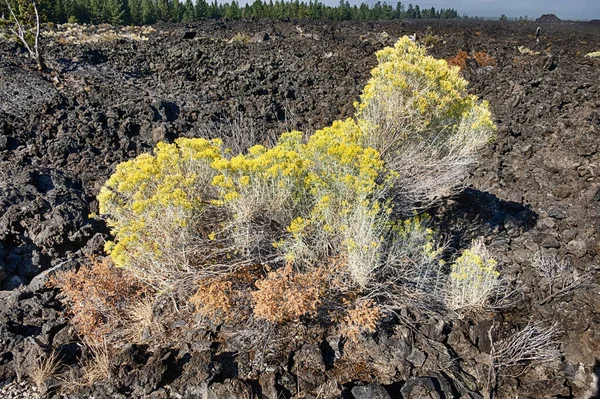
<instances>
[{"instance_id":1,"label":"black shadow on lava rock right of the tallest shrub","mask_svg":"<svg viewBox=\"0 0 600 399\"><path fill-rule=\"evenodd\" d=\"M496 195L467 188L431 212L450 247L466 248L473 239L507 240L531 230L538 214L529 204L505 201Z\"/></svg>"}]
</instances>

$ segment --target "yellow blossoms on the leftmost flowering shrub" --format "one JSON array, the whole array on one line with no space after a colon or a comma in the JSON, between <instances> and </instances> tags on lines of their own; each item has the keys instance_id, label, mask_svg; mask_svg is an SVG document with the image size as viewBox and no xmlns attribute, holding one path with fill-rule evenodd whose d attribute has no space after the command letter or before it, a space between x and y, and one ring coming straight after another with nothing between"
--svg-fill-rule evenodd
<instances>
[{"instance_id":1,"label":"yellow blossoms on the leftmost flowering shrub","mask_svg":"<svg viewBox=\"0 0 600 399\"><path fill-rule=\"evenodd\" d=\"M221 140L178 139L158 143L152 154L117 165L100 190L100 213L115 236L107 252L118 266L142 254L160 257L162 234L184 229L206 201L210 164L221 159Z\"/></svg>"}]
</instances>

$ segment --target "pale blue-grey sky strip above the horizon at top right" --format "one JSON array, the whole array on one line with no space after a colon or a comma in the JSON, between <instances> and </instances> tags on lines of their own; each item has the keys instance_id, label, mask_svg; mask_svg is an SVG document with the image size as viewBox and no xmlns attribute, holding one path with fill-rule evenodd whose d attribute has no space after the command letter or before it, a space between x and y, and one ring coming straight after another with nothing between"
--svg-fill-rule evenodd
<instances>
[{"instance_id":1,"label":"pale blue-grey sky strip above the horizon at top right","mask_svg":"<svg viewBox=\"0 0 600 399\"><path fill-rule=\"evenodd\" d=\"M367 0L374 3L376 0ZM361 0L349 0L351 4ZM366 2L366 1L365 1ZM387 0L396 4L397 0ZM339 4L339 0L324 0L329 5ZM382 0L383 3L383 0ZM421 8L454 8L459 14L480 17L508 17L527 15L529 19L542 14L556 14L560 19L590 20L600 19L600 0L403 0L403 4L418 4Z\"/></svg>"}]
</instances>

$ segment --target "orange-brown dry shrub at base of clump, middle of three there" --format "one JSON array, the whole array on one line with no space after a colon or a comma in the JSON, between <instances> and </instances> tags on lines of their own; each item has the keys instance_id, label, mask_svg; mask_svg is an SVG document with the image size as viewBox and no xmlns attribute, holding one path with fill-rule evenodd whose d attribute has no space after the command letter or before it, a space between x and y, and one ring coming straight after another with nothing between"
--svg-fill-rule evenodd
<instances>
[{"instance_id":1,"label":"orange-brown dry shrub at base of clump, middle of three there","mask_svg":"<svg viewBox=\"0 0 600 399\"><path fill-rule=\"evenodd\" d=\"M326 285L321 268L300 273L291 264L270 272L256 282L252 292L254 315L273 323L285 323L317 313Z\"/></svg>"}]
</instances>

